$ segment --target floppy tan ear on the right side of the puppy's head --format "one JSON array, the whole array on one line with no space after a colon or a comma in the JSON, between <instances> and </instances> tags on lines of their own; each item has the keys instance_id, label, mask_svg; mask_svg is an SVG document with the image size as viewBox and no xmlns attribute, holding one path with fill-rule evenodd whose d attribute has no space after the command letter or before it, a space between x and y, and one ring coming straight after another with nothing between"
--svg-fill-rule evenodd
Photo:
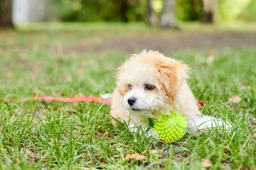
<instances>
[{"instance_id":1,"label":"floppy tan ear on the right side of the puppy's head","mask_svg":"<svg viewBox=\"0 0 256 170\"><path fill-rule=\"evenodd\" d=\"M172 97L189 78L189 67L181 61L163 58L157 63L159 82L168 97Z\"/></svg>"}]
</instances>

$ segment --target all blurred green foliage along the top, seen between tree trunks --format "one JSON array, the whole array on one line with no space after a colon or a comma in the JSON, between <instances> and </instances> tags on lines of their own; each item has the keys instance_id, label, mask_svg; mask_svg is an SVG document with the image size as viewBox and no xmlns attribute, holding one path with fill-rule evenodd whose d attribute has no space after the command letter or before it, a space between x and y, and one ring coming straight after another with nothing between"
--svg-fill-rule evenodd
<instances>
[{"instance_id":1,"label":"all blurred green foliage along the top, seen between tree trunks","mask_svg":"<svg viewBox=\"0 0 256 170\"><path fill-rule=\"evenodd\" d=\"M145 21L148 0L50 0L52 10L62 21L133 22ZM153 8L161 15L162 0L154 0ZM180 21L200 20L202 0L176 0ZM218 0L218 22L256 21L256 0Z\"/></svg>"}]
</instances>

